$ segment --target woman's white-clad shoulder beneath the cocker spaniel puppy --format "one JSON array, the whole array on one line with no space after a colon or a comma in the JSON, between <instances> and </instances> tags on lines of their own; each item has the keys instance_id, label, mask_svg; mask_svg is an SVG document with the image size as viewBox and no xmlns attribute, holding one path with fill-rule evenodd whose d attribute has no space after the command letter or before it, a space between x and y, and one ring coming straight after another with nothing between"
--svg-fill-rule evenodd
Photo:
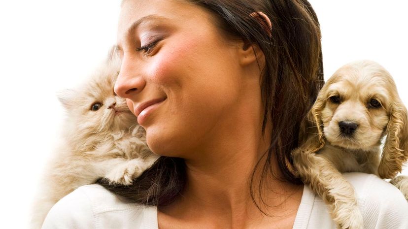
<instances>
[{"instance_id":1,"label":"woman's white-clad shoulder beneath the cocker spaniel puppy","mask_svg":"<svg viewBox=\"0 0 408 229\"><path fill-rule=\"evenodd\" d=\"M373 174L353 172L343 175L354 187L365 229L408 228L408 202L400 190ZM322 223L323 228L336 228L323 200L312 194L308 187L305 187L305 193L313 196L309 201L311 206L305 228L320 228Z\"/></svg>"}]
</instances>

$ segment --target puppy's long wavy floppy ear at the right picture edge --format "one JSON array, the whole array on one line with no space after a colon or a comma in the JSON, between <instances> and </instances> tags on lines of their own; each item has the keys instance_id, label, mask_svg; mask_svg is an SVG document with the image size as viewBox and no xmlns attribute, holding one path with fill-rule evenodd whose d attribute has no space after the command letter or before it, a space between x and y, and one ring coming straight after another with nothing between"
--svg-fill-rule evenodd
<instances>
[{"instance_id":1,"label":"puppy's long wavy floppy ear at the right picture edge","mask_svg":"<svg viewBox=\"0 0 408 229\"><path fill-rule=\"evenodd\" d=\"M399 98L391 106L386 133L387 138L378 166L378 175L383 179L395 177L408 160L407 108Z\"/></svg>"}]
</instances>

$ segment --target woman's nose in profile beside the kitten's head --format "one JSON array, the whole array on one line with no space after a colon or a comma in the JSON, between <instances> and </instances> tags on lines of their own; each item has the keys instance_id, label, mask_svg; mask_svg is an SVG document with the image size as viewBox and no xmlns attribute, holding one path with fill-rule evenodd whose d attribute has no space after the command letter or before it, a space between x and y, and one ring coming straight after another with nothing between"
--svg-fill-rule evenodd
<instances>
[{"instance_id":1,"label":"woman's nose in profile beside the kitten's head","mask_svg":"<svg viewBox=\"0 0 408 229\"><path fill-rule=\"evenodd\" d=\"M143 90L144 85L145 80L141 77L140 71L137 71L136 66L132 65L132 61L124 59L113 88L116 95L132 99Z\"/></svg>"}]
</instances>

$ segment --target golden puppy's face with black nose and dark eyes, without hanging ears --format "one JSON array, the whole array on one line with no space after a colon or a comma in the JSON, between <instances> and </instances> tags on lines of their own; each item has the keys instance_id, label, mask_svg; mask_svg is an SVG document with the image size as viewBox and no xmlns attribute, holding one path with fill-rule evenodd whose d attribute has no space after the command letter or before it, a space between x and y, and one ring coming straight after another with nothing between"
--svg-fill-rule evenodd
<instances>
[{"instance_id":1,"label":"golden puppy's face with black nose and dark eyes, without hanging ears","mask_svg":"<svg viewBox=\"0 0 408 229\"><path fill-rule=\"evenodd\" d=\"M373 63L341 67L318 97L327 141L347 149L379 146L390 119L394 92L389 73Z\"/></svg>"}]
</instances>

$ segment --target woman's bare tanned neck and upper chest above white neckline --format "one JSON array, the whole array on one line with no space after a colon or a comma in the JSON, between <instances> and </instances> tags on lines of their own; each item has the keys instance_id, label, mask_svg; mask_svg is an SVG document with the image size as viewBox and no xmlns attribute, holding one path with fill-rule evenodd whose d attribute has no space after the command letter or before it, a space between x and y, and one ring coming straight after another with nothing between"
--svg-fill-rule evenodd
<instances>
[{"instance_id":1,"label":"woman's bare tanned neck and upper chest above white neckline","mask_svg":"<svg viewBox=\"0 0 408 229\"><path fill-rule=\"evenodd\" d=\"M228 116L219 117L206 139L200 139L203 145L185 155L186 186L172 204L159 207L159 225L163 219L160 216L165 216L180 225L177 228L261 229L265 225L268 225L266 228L271 225L292 228L303 186L282 182L277 159L273 156L272 164L267 166L272 168L276 178L265 177L265 182L259 185L267 158L265 152L270 147L272 123L267 122L263 134L263 104L254 102L261 101L260 93L258 96L243 96L242 106L231 110ZM266 217L260 209L273 217ZM163 225L171 225L167 223Z\"/></svg>"}]
</instances>

